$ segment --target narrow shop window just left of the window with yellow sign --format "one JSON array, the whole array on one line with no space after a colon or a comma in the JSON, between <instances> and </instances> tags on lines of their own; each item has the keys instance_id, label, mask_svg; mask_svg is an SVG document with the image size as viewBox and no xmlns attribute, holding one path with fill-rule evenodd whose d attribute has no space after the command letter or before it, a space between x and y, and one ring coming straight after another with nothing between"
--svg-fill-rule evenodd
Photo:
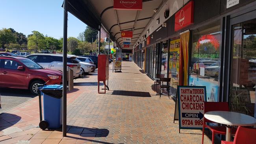
<instances>
[{"instance_id":1,"label":"narrow shop window just left of the window with yellow sign","mask_svg":"<svg viewBox=\"0 0 256 144\"><path fill-rule=\"evenodd\" d=\"M161 52L161 74L165 75L167 78L167 64L168 64L168 41L164 41L162 44Z\"/></svg>"}]
</instances>

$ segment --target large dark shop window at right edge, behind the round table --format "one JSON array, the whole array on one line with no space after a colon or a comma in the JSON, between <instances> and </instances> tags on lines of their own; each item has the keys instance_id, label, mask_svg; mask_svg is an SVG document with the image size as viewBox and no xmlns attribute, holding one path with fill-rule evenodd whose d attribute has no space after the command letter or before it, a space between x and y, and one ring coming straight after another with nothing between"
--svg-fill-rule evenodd
<instances>
[{"instance_id":1,"label":"large dark shop window at right edge, behind the round table","mask_svg":"<svg viewBox=\"0 0 256 144\"><path fill-rule=\"evenodd\" d=\"M232 26L230 110L256 116L256 18Z\"/></svg>"}]
</instances>

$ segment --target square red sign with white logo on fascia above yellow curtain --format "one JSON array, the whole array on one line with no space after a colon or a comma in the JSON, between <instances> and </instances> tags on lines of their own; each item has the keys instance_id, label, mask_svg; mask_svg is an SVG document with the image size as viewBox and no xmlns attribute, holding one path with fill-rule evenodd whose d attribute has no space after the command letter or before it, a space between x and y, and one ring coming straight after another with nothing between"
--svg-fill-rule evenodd
<instances>
[{"instance_id":1,"label":"square red sign with white logo on fascia above yellow curtain","mask_svg":"<svg viewBox=\"0 0 256 144\"><path fill-rule=\"evenodd\" d=\"M194 22L194 1L189 2L175 14L174 31L178 31Z\"/></svg>"}]
</instances>

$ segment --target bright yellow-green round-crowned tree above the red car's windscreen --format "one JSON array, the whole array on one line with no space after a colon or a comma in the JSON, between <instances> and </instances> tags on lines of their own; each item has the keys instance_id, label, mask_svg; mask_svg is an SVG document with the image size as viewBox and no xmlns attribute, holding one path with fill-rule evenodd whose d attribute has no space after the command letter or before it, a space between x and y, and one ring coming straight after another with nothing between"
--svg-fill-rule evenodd
<instances>
[{"instance_id":1,"label":"bright yellow-green round-crowned tree above the red car's windscreen","mask_svg":"<svg viewBox=\"0 0 256 144\"><path fill-rule=\"evenodd\" d=\"M38 31L32 31L32 35L28 36L28 49L38 51L45 48L45 37Z\"/></svg>"}]
</instances>

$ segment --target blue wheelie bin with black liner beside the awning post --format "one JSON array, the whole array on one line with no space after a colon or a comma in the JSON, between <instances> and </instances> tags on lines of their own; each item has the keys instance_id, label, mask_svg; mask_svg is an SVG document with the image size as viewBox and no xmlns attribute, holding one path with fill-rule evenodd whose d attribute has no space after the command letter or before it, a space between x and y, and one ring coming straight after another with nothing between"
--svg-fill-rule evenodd
<instances>
[{"instance_id":1,"label":"blue wheelie bin with black liner beside the awning post","mask_svg":"<svg viewBox=\"0 0 256 144\"><path fill-rule=\"evenodd\" d=\"M62 125L62 89L63 85L45 85L43 92L44 120L39 123L41 129L58 129Z\"/></svg>"}]
</instances>

